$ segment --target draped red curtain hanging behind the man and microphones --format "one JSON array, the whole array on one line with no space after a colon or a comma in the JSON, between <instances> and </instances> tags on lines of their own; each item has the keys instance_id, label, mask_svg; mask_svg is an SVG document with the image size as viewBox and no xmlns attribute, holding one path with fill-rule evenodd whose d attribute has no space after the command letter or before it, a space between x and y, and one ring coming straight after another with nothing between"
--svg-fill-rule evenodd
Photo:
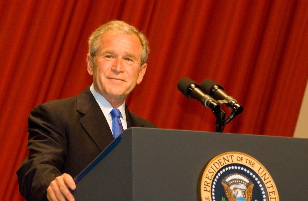
<instances>
[{"instance_id":1,"label":"draped red curtain hanging behind the man and microphones","mask_svg":"<svg viewBox=\"0 0 308 201\"><path fill-rule=\"evenodd\" d=\"M15 172L31 109L91 85L87 38L113 19L150 42L144 81L127 98L132 112L160 128L214 131L212 112L176 87L182 77L211 78L244 107L225 132L293 136L308 77L307 8L305 0L0 1L0 200L22 200Z\"/></svg>"}]
</instances>

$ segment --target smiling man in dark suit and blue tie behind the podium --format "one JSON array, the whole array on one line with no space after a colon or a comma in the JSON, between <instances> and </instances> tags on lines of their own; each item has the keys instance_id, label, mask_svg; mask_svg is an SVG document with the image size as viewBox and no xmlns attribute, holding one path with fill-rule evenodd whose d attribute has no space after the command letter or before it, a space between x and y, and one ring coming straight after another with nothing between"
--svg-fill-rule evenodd
<instances>
[{"instance_id":1,"label":"smiling man in dark suit and blue tie behind the podium","mask_svg":"<svg viewBox=\"0 0 308 201\"><path fill-rule=\"evenodd\" d=\"M76 97L43 103L29 115L29 155L17 171L26 200L74 200L73 178L123 129L156 127L125 105L147 69L144 34L115 20L96 29L88 42L93 84Z\"/></svg>"}]
</instances>

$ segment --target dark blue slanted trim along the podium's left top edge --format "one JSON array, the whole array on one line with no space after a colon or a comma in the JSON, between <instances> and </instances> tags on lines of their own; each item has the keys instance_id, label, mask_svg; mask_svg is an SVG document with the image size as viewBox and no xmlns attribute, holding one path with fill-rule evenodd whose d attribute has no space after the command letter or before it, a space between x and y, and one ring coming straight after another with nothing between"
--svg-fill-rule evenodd
<instances>
[{"instance_id":1,"label":"dark blue slanted trim along the podium's left top edge","mask_svg":"<svg viewBox=\"0 0 308 201\"><path fill-rule=\"evenodd\" d=\"M88 172L90 172L93 167L95 167L105 156L107 156L110 151L115 148L122 140L122 134L114 139L102 153L100 153L82 172L79 173L74 179L75 183L78 183Z\"/></svg>"}]
</instances>

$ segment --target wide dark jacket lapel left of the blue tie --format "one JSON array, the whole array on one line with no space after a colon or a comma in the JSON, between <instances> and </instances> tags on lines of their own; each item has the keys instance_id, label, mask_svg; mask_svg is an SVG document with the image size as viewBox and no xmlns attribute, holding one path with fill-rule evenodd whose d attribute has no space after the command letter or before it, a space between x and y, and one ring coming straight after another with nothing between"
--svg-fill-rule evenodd
<instances>
[{"instance_id":1,"label":"wide dark jacket lapel left of the blue tie","mask_svg":"<svg viewBox=\"0 0 308 201\"><path fill-rule=\"evenodd\" d=\"M80 120L81 125L91 136L100 151L103 151L113 141L113 135L102 110L89 87L79 94L76 99L76 110L84 115Z\"/></svg>"}]
</instances>

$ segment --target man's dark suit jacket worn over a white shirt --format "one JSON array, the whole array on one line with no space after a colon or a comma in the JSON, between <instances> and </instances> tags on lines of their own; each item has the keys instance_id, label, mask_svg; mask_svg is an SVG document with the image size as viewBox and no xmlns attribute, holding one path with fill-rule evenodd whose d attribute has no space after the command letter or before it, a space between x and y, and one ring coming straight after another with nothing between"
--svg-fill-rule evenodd
<instances>
[{"instance_id":1,"label":"man's dark suit jacket worn over a white shirt","mask_svg":"<svg viewBox=\"0 0 308 201\"><path fill-rule=\"evenodd\" d=\"M156 127L125 107L127 127ZM76 177L113 140L89 87L76 97L35 107L28 118L29 155L17 171L27 200L46 200L47 187L63 173Z\"/></svg>"}]
</instances>

